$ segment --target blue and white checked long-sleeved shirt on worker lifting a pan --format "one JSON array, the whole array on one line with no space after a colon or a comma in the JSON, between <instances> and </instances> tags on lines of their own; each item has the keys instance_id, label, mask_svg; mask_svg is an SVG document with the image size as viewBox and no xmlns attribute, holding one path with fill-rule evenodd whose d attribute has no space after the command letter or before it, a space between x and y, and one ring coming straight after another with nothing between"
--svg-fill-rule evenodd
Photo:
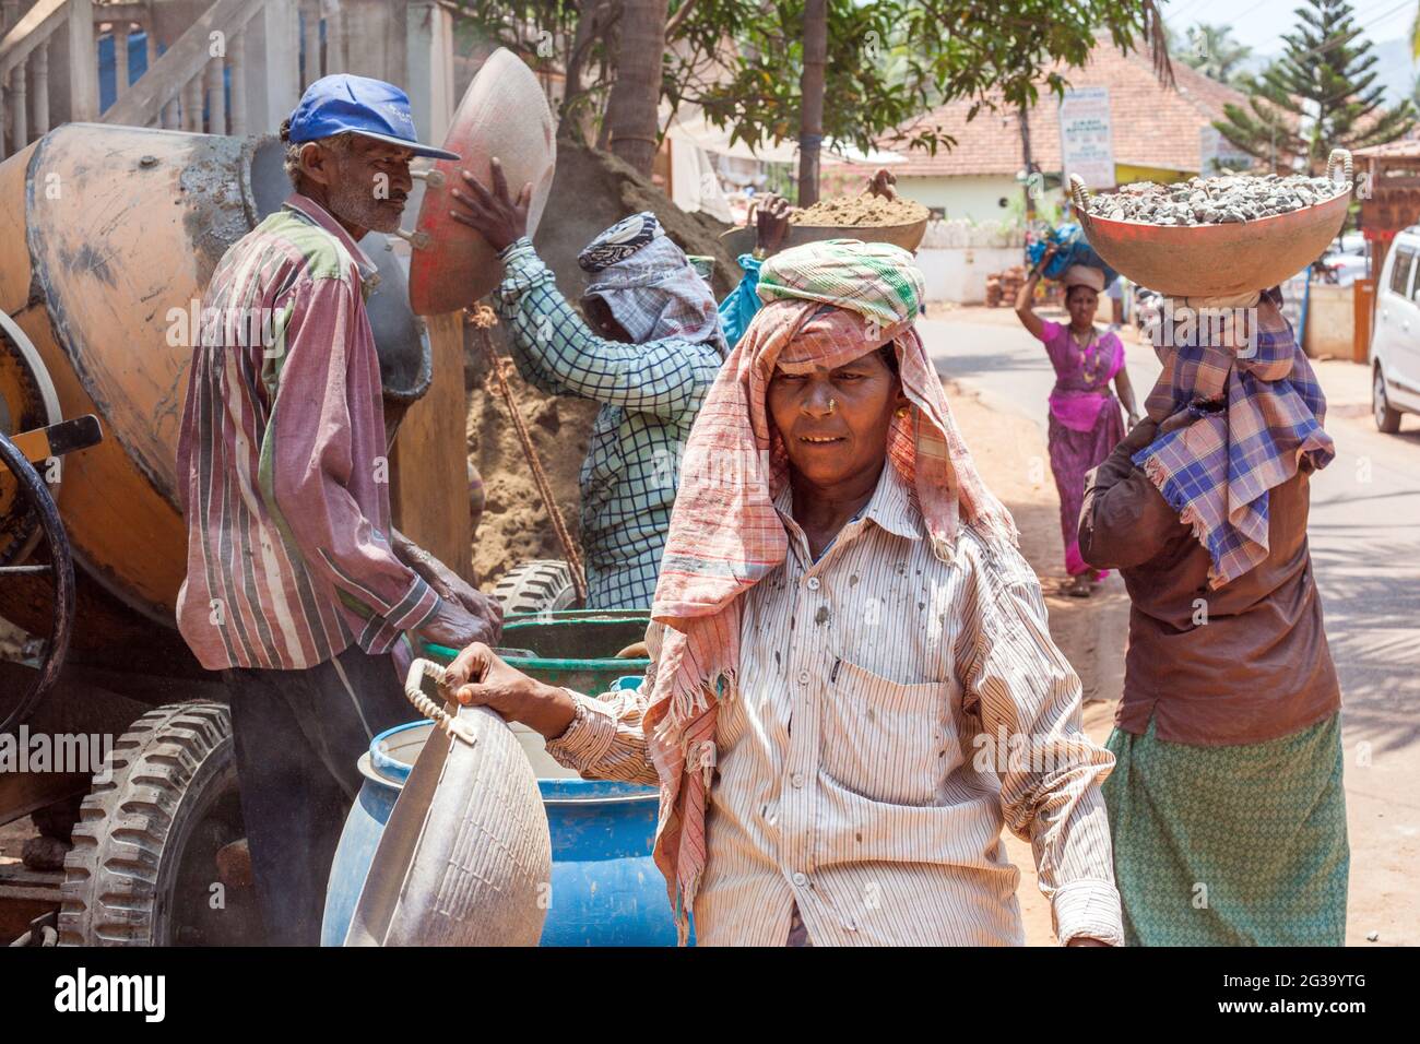
<instances>
[{"instance_id":1,"label":"blue and white checked long-sleeved shirt on worker lifting a pan","mask_svg":"<svg viewBox=\"0 0 1420 1044\"><path fill-rule=\"evenodd\" d=\"M501 254L494 308L518 374L550 395L602 403L582 463L588 608L649 608L680 453L720 369L713 342L621 344L594 334L525 236Z\"/></svg>"}]
</instances>

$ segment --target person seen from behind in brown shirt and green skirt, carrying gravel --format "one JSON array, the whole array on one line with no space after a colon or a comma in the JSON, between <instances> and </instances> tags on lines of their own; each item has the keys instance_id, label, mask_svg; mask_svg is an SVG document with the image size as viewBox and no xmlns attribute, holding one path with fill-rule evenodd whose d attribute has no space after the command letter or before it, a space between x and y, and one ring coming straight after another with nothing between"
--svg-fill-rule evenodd
<instances>
[{"instance_id":1,"label":"person seen from behind in brown shirt and green skirt, carrying gravel","mask_svg":"<svg viewBox=\"0 0 1420 1044\"><path fill-rule=\"evenodd\" d=\"M1156 337L1149 418L1086 482L1081 554L1133 599L1105 784L1132 943L1346 935L1340 689L1306 547L1335 450L1279 305L1162 327L1208 332Z\"/></svg>"}]
</instances>

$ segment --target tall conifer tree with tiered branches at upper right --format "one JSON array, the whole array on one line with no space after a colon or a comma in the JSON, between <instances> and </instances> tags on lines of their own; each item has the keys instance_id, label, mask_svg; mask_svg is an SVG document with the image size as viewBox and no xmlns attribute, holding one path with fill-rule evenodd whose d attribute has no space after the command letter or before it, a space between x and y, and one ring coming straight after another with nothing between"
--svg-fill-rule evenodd
<instances>
[{"instance_id":1,"label":"tall conifer tree with tiered branches at upper right","mask_svg":"<svg viewBox=\"0 0 1420 1044\"><path fill-rule=\"evenodd\" d=\"M1287 51L1247 81L1247 108L1224 105L1220 134L1277 169L1321 173L1333 148L1394 141L1414 125L1414 107L1387 109L1376 82L1377 57L1346 0L1308 0Z\"/></svg>"}]
</instances>

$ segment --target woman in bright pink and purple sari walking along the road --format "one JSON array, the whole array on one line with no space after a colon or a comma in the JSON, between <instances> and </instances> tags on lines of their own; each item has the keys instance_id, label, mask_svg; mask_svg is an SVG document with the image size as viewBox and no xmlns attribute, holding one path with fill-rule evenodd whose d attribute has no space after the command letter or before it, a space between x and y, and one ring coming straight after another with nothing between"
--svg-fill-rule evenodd
<instances>
[{"instance_id":1,"label":"woman in bright pink and purple sari walking along the road","mask_svg":"<svg viewBox=\"0 0 1420 1044\"><path fill-rule=\"evenodd\" d=\"M1061 534L1065 541L1065 571L1071 582L1065 592L1088 598L1091 581L1108 572L1091 568L1079 554L1079 510L1085 500L1085 473L1102 463L1125 437L1119 403L1129 410L1129 426L1139 423L1135 389L1125 368L1125 345L1113 332L1095 327L1095 310L1105 290L1105 273L1085 264L1065 271L1065 310L1069 324L1042 320L1031 308L1041 268L1054 251L1047 251L1015 298L1015 314L1028 331L1045 342L1055 366L1051 391L1051 472L1061 497ZM1116 399L1109 389L1113 381Z\"/></svg>"}]
</instances>

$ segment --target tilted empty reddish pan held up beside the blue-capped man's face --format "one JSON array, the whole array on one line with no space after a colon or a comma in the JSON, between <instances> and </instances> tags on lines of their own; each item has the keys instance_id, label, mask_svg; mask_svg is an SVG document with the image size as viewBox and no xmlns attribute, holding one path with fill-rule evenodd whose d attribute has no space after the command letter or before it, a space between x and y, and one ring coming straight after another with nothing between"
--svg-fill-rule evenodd
<instances>
[{"instance_id":1,"label":"tilted empty reddish pan held up beside the blue-capped man's face","mask_svg":"<svg viewBox=\"0 0 1420 1044\"><path fill-rule=\"evenodd\" d=\"M450 192L463 186L460 170L469 170L484 187L493 187L488 161L497 156L514 197L532 183L528 206L528 234L537 230L547 196L552 190L557 162L557 125L542 88L513 51L494 51L459 104L443 146L463 156L440 159L419 207L416 246L409 261L409 304L419 315L439 315L473 304L498 286L503 264L487 240L450 214ZM464 186L464 195L467 187Z\"/></svg>"}]
</instances>

